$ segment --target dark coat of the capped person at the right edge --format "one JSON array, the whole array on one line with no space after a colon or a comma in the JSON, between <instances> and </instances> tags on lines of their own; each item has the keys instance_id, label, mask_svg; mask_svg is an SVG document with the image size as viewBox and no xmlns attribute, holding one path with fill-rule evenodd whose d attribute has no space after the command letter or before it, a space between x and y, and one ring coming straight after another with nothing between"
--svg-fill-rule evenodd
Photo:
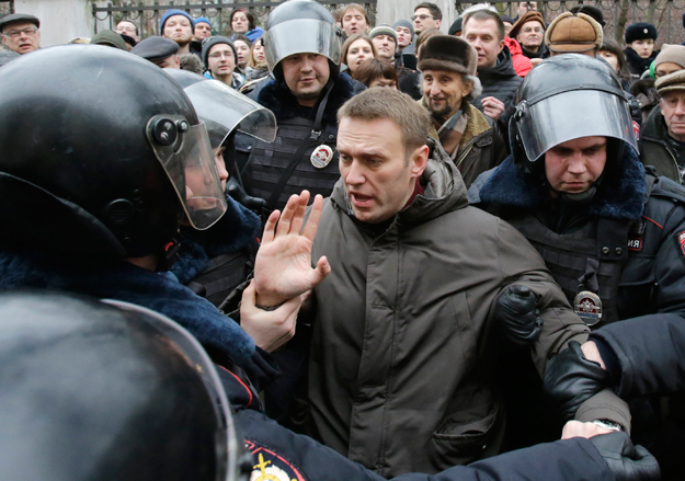
<instances>
[{"instance_id":1,"label":"dark coat of the capped person at the right edge","mask_svg":"<svg viewBox=\"0 0 685 481\"><path fill-rule=\"evenodd\" d=\"M675 139L669 136L669 127L658 105L640 130L640 161L653 165L657 175L684 184L685 157L678 154L676 146Z\"/></svg>"}]
</instances>

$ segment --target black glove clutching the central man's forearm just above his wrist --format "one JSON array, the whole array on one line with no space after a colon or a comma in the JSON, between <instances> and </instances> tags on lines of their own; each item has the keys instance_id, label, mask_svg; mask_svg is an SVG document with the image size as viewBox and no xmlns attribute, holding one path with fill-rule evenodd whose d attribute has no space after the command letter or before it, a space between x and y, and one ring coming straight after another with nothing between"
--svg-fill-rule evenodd
<instances>
[{"instance_id":1,"label":"black glove clutching the central man's forearm just above his wrist","mask_svg":"<svg viewBox=\"0 0 685 481\"><path fill-rule=\"evenodd\" d=\"M547 363L545 391L557 404L564 421L575 416L578 408L609 385L609 374L583 355L576 341Z\"/></svg>"}]
</instances>

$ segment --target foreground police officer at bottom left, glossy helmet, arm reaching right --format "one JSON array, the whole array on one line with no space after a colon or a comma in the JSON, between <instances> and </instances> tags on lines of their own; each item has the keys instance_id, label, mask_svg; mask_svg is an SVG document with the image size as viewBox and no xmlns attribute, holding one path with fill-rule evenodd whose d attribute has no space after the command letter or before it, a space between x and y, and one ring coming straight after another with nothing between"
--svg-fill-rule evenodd
<instances>
[{"instance_id":1,"label":"foreground police officer at bottom left, glossy helmet, arm reaching right","mask_svg":"<svg viewBox=\"0 0 685 481\"><path fill-rule=\"evenodd\" d=\"M139 306L0 294L0 359L3 480L383 481L249 409L249 396L259 401L247 386L227 382L232 375L216 369L187 331ZM247 399L233 414L225 389L233 405ZM659 468L615 433L536 446L436 479L515 481L536 472L552 481L652 481Z\"/></svg>"}]
</instances>

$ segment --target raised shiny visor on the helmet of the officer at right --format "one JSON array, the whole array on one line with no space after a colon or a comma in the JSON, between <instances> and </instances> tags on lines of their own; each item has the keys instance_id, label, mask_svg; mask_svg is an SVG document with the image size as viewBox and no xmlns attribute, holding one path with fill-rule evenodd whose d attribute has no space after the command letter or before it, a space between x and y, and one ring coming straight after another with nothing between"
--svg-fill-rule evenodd
<instances>
[{"instance_id":1,"label":"raised shiny visor on the helmet of the officer at right","mask_svg":"<svg viewBox=\"0 0 685 481\"><path fill-rule=\"evenodd\" d=\"M533 162L552 147L581 137L614 137L638 148L628 104L606 92L552 95L526 105L517 122L526 157Z\"/></svg>"}]
</instances>

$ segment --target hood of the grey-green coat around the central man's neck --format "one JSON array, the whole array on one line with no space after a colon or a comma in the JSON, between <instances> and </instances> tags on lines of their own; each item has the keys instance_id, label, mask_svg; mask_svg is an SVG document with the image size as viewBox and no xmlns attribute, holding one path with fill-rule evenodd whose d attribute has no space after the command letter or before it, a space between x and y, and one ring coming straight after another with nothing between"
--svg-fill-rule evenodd
<instances>
[{"instance_id":1,"label":"hood of the grey-green coat around the central man's neck","mask_svg":"<svg viewBox=\"0 0 685 481\"><path fill-rule=\"evenodd\" d=\"M429 137L426 145L431 151L427 165L421 175L424 192L396 216L396 222L409 226L423 224L447 211L468 206L466 185L447 152L433 138ZM350 217L354 217L342 179L335 184L331 201Z\"/></svg>"}]
</instances>

